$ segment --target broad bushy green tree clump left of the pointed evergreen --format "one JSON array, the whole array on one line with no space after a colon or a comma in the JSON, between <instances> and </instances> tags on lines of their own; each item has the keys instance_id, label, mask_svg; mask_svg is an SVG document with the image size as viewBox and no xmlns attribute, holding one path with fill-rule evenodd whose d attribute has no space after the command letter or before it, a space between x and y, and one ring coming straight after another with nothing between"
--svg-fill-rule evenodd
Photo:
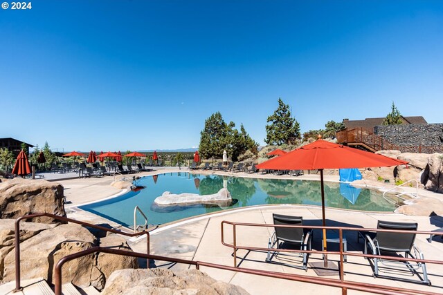
<instances>
[{"instance_id":1,"label":"broad bushy green tree clump left of the pointed evergreen","mask_svg":"<svg viewBox=\"0 0 443 295\"><path fill-rule=\"evenodd\" d=\"M257 151L258 143L246 133L243 124L240 131L234 122L226 124L220 112L214 113L205 121L200 133L199 153L202 158L221 158L226 150L228 157L236 161L246 150Z\"/></svg>"}]
</instances>

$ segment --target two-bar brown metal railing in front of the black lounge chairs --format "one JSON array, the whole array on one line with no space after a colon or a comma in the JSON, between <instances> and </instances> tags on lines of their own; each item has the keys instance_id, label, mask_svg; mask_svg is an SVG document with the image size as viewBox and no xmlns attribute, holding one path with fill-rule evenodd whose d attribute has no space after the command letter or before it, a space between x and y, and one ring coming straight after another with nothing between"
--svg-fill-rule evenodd
<instances>
[{"instance_id":1,"label":"two-bar brown metal railing in front of the black lounge chairs","mask_svg":"<svg viewBox=\"0 0 443 295\"><path fill-rule=\"evenodd\" d=\"M233 226L233 244L229 244L224 241L224 225L232 225ZM339 251L312 251L312 250L296 250L296 249L279 249L281 252L295 252L295 253L307 253L307 254L323 254L327 257L327 254L337 254L340 256L340 267L339 267L339 276L342 283L344 283L344 264L343 258L344 256L359 256L363 258L380 258L380 259L388 259L388 260L397 260L397 261L413 261L416 263L433 263L437 265L443 265L443 260L428 260L428 259L418 259L418 258L403 258L403 257L392 257L392 256L381 256L381 255L373 255L373 254L357 254L352 252L344 252L343 251L343 231L382 231L382 232L390 232L390 233L404 233L404 230L401 229L365 229L365 228L356 228L356 227L323 227L323 226L311 226L311 225L269 225L262 223L248 223L248 222L230 222L223 220L221 221L221 244L230 247L233 249L233 258L234 258L234 268L237 268L237 250L249 250L249 251L269 251L269 248L263 247L245 247L237 245L237 234L236 228L237 226L245 226L245 227L289 227L289 228L302 228L302 229L335 229L338 230L339 236ZM426 234L426 235L439 235L443 236L443 232L436 231L409 231L408 234ZM326 258L327 259L327 258ZM326 260L325 260L326 263ZM347 282L347 283L355 283L357 282ZM401 288L398 288L401 289ZM406 290L406 289L402 289ZM419 294L428 294L427 292L419 293ZM430 293L435 294L435 293Z\"/></svg>"}]
</instances>

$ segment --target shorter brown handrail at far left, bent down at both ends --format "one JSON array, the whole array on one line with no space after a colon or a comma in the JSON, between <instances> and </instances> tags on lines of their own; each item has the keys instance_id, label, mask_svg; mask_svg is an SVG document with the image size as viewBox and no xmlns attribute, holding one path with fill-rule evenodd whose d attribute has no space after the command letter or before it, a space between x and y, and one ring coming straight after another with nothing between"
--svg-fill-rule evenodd
<instances>
[{"instance_id":1,"label":"shorter brown handrail at far left, bent down at both ends","mask_svg":"<svg viewBox=\"0 0 443 295\"><path fill-rule=\"evenodd\" d=\"M102 227L100 225L93 225L89 222L79 221L79 220L67 218L64 216L54 215L51 213L28 214L25 216L21 216L21 217L17 218L17 220L15 220L15 290L14 290L14 292L19 292L22 289L20 286L20 283L21 283L20 282L20 221L23 219L36 218L39 216L46 216L46 217L50 217L55 220L60 220L60 221L64 221L64 222L73 222L73 223L77 223L78 225L84 225L87 227L92 227L94 229L100 229L102 231L109 231L111 233L121 234L123 236L134 237L134 236L141 236L141 235L145 234L146 235L146 253L148 255L150 254L150 233L149 233L149 231L141 231L139 233L129 234L125 231L120 231L119 229L109 229L107 227ZM147 260L147 268L150 267L149 265L150 265L150 261Z\"/></svg>"}]
</instances>

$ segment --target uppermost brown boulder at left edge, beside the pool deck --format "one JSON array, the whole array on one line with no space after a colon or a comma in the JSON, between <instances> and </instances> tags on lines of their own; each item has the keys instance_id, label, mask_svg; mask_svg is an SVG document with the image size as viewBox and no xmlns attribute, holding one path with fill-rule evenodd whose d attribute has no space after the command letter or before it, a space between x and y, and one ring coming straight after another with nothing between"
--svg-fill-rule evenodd
<instances>
[{"instance_id":1,"label":"uppermost brown boulder at left edge, beside the pool deck","mask_svg":"<svg viewBox=\"0 0 443 295\"><path fill-rule=\"evenodd\" d=\"M46 180L15 178L0 183L0 219L19 218L31 213L52 213L66 216L63 206L63 187ZM45 216L34 222L53 222Z\"/></svg>"}]
</instances>

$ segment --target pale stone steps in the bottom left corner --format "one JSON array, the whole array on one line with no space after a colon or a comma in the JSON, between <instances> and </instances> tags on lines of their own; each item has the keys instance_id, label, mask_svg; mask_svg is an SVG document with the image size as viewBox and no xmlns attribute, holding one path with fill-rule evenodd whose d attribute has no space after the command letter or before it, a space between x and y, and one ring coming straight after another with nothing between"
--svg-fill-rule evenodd
<instances>
[{"instance_id":1,"label":"pale stone steps in the bottom left corner","mask_svg":"<svg viewBox=\"0 0 443 295\"><path fill-rule=\"evenodd\" d=\"M43 278L31 278L28 280L21 280L20 292L14 293L15 281L0 285L0 295L54 295L53 289L49 287L46 280ZM66 283L62 286L62 293L64 295L98 295L100 292L93 287L86 288L75 287L72 283Z\"/></svg>"}]
</instances>

